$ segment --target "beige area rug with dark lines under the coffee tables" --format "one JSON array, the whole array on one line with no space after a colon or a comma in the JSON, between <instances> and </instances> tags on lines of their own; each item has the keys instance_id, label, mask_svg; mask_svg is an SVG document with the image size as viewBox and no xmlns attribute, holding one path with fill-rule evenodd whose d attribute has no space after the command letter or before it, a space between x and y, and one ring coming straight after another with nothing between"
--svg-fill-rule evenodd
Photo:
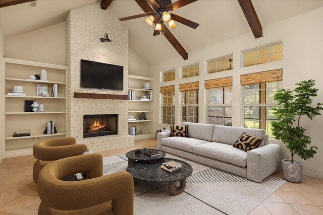
<instances>
[{"instance_id":1,"label":"beige area rug with dark lines under the coffee tables","mask_svg":"<svg viewBox=\"0 0 323 215\"><path fill-rule=\"evenodd\" d=\"M166 154L193 167L183 193L172 196L165 183L137 181L134 186L134 214L248 214L286 181L268 177L261 183ZM103 174L126 171L127 158L103 158ZM179 185L179 183L178 183Z\"/></svg>"}]
</instances>

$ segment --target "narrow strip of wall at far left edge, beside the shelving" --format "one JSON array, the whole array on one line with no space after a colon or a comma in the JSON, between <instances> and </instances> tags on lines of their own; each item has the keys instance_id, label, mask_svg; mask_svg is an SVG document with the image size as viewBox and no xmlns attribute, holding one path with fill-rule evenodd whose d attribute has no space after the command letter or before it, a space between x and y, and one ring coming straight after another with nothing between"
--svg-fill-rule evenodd
<instances>
[{"instance_id":1,"label":"narrow strip of wall at far left edge, beside the shelving","mask_svg":"<svg viewBox=\"0 0 323 215\"><path fill-rule=\"evenodd\" d=\"M4 73L5 71L2 71L2 57L4 56L5 54L5 37L4 37L4 34L2 32L2 29L0 28L0 77L3 78L5 77L4 76ZM5 91L4 91L4 86L1 86L0 87L0 95L1 96L4 96L5 95ZM5 104L2 103L3 99L0 99L0 121L1 121L1 126L4 126L4 121L5 121L5 115L4 115L4 108L5 108ZM3 136L5 135L4 133L2 133L4 131L4 129L1 129L0 130L0 136ZM0 138L0 162L2 161L3 159L3 155L2 155L2 146L4 146L4 142L1 142L1 141L4 141L5 138Z\"/></svg>"}]
</instances>

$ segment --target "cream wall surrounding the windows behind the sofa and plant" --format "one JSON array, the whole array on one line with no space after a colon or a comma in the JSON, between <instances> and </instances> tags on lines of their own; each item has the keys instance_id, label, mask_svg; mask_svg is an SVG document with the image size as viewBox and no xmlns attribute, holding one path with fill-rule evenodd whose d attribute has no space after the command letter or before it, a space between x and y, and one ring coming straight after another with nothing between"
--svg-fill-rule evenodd
<instances>
[{"instance_id":1,"label":"cream wall surrounding the windows behind the sofa and plant","mask_svg":"<svg viewBox=\"0 0 323 215\"><path fill-rule=\"evenodd\" d=\"M175 96L177 101L175 123L180 123L180 100L179 84L199 81L199 122L205 123L206 113L206 90L204 80L233 76L233 126L242 126L242 87L240 75L283 68L283 88L294 88L294 84L303 80L316 80L316 87L319 88L318 96L314 102L323 102L323 8L293 17L283 22L276 23L263 28L263 37L254 39L252 33L244 34L224 42L214 44L189 53L188 60L184 61L180 56L150 66L154 74L154 89L161 86L175 84ZM283 60L259 64L248 67L241 67L241 51L258 46L283 41ZM233 53L233 69L222 71L216 74L206 74L206 60L221 57ZM200 75L187 79L179 79L180 67L199 62ZM176 80L167 83L159 83L160 72L169 69L176 69ZM159 96L157 98L156 96ZM160 95L155 93L155 98ZM154 102L154 128L161 128L159 124L161 101ZM323 179L323 112L321 116L313 121L302 119L302 126L307 129L307 134L312 138L312 146L318 147L318 152L313 159L302 161L304 174ZM273 141L281 144L279 141ZM282 144L281 144L282 145ZM290 158L289 151L282 146L283 159Z\"/></svg>"}]
</instances>

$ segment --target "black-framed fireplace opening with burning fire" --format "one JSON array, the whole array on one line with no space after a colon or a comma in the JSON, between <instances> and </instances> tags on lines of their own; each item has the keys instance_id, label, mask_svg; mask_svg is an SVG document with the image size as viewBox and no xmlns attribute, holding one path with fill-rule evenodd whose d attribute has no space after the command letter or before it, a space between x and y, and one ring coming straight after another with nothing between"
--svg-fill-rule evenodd
<instances>
[{"instance_id":1,"label":"black-framed fireplace opening with burning fire","mask_svg":"<svg viewBox=\"0 0 323 215\"><path fill-rule=\"evenodd\" d=\"M83 138L118 134L118 114L83 115Z\"/></svg>"}]
</instances>

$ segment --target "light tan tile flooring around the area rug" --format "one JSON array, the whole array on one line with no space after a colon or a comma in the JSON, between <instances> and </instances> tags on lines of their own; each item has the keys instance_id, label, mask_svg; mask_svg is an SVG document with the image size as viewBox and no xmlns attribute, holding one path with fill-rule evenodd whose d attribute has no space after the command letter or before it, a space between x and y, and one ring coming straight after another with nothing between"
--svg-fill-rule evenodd
<instances>
[{"instance_id":1,"label":"light tan tile flooring around the area rug","mask_svg":"<svg viewBox=\"0 0 323 215\"><path fill-rule=\"evenodd\" d=\"M142 147L155 148L156 139L136 140L135 146L101 152L103 157ZM0 163L0 215L37 214L40 199L32 179L32 155L4 159ZM280 171L273 174L281 178ZM302 183L286 182L259 204L252 215L323 214L323 180L304 176Z\"/></svg>"}]
</instances>

